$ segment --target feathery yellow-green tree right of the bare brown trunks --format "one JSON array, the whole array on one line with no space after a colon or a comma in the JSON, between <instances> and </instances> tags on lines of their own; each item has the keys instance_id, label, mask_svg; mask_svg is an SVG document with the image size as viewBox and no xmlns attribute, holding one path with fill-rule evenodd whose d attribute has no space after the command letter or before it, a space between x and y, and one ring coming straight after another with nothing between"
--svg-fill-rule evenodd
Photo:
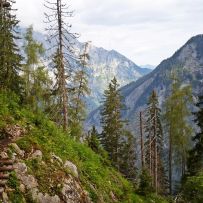
<instances>
[{"instance_id":1,"label":"feathery yellow-green tree right of the bare brown trunks","mask_svg":"<svg viewBox=\"0 0 203 203\"><path fill-rule=\"evenodd\" d=\"M185 173L186 156L192 135L192 128L188 122L191 116L189 105L192 102L190 86L181 86L177 78L173 79L171 95L165 103L165 124L168 134L168 171L169 192L172 194L173 163Z\"/></svg>"}]
</instances>

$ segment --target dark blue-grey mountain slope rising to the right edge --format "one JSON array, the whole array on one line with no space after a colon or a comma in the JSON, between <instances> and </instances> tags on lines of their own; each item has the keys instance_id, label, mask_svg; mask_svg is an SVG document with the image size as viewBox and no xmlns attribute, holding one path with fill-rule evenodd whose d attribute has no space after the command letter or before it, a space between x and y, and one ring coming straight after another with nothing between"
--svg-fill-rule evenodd
<instances>
[{"instance_id":1,"label":"dark blue-grey mountain slope rising to the right edge","mask_svg":"<svg viewBox=\"0 0 203 203\"><path fill-rule=\"evenodd\" d=\"M133 126L136 112L148 100L152 90L156 90L162 104L170 93L171 72L176 71L183 84L190 84L194 94L203 92L203 35L192 37L173 56L162 61L149 74L121 88L127 110L123 117ZM91 112L86 127L99 127L99 109Z\"/></svg>"}]
</instances>

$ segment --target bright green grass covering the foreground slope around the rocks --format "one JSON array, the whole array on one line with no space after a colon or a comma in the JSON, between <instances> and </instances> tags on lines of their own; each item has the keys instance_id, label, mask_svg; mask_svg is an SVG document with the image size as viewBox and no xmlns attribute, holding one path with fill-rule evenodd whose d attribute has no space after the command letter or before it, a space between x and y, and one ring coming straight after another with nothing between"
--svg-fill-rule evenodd
<instances>
[{"instance_id":1,"label":"bright green grass covering the foreground slope around the rocks","mask_svg":"<svg viewBox=\"0 0 203 203\"><path fill-rule=\"evenodd\" d=\"M63 161L69 160L77 166L79 181L83 189L88 191L93 202L101 202L101 200L105 203L113 202L112 193L117 202L166 202L155 195L147 198L137 195L132 184L117 172L108 160L95 154L86 144L74 141L69 133L64 133L57 128L45 115L32 113L20 107L19 103L19 99L12 93L0 94L0 139L5 136L3 129L8 124L17 124L26 129L25 135L17 140L17 145L26 154L33 149L42 151L43 164L38 160L26 159L26 156L23 160L29 168L29 173L37 179L40 191L58 194L60 177L70 173L50 161L51 154L54 153ZM14 178L15 181L17 180ZM16 189L16 187L17 183L13 188ZM23 196L29 202L29 194L21 194L18 190L11 196L13 202L18 202L14 201L17 196L19 198Z\"/></svg>"}]
</instances>

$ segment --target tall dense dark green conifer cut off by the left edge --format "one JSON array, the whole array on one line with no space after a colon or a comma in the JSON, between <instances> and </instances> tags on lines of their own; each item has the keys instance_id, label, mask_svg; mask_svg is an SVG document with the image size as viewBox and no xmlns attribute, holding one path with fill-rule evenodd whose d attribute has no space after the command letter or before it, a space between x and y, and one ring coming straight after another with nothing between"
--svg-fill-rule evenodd
<instances>
[{"instance_id":1,"label":"tall dense dark green conifer cut off by the left edge","mask_svg":"<svg viewBox=\"0 0 203 203\"><path fill-rule=\"evenodd\" d=\"M14 1L0 1L0 89L20 92L22 57L16 45L18 20L13 14Z\"/></svg>"}]
</instances>

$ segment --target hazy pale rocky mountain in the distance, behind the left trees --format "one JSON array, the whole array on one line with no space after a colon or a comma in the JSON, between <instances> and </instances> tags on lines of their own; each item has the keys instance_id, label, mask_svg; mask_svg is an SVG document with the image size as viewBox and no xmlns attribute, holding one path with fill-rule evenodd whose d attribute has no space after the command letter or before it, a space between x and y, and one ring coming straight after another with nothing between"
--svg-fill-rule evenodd
<instances>
[{"instance_id":1,"label":"hazy pale rocky mountain in the distance, behind the left trees","mask_svg":"<svg viewBox=\"0 0 203 203\"><path fill-rule=\"evenodd\" d=\"M21 27L19 31L24 34L26 29ZM37 41L43 43L45 48L49 47L46 41L46 35L40 32L34 32L33 36ZM19 41L18 45L22 47L23 40ZM83 43L75 41L77 53L83 49L83 45ZM86 98L88 112L100 106L103 92L113 77L117 78L122 87L151 72L151 69L140 68L115 50L108 51L91 45L89 48L89 57L87 73L91 94Z\"/></svg>"}]
</instances>

